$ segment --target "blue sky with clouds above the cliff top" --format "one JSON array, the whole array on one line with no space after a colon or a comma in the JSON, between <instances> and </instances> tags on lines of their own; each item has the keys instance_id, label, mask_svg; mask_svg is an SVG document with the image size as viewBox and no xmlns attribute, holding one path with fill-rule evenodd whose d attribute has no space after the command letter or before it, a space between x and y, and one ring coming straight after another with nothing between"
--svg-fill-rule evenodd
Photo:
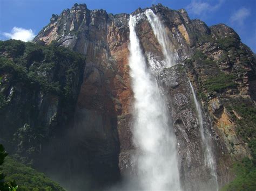
<instances>
[{"instance_id":1,"label":"blue sky with clouds above the cliff top","mask_svg":"<svg viewBox=\"0 0 256 191\"><path fill-rule=\"evenodd\" d=\"M170 9L186 9L191 19L208 26L224 23L240 36L242 43L256 53L256 0L0 0L0 40L29 41L50 22L75 3L108 13L131 13L161 3Z\"/></svg>"}]
</instances>

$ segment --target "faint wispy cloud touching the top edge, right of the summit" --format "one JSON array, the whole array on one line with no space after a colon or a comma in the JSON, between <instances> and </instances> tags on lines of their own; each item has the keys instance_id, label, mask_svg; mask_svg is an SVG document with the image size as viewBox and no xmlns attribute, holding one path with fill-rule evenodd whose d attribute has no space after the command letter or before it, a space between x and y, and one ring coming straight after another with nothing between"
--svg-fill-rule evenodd
<instances>
[{"instance_id":1,"label":"faint wispy cloud touching the top edge, right of the summit","mask_svg":"<svg viewBox=\"0 0 256 191\"><path fill-rule=\"evenodd\" d=\"M192 0L191 3L186 6L186 9L193 15L205 15L209 11L219 9L224 1L225 0L218 0L217 4L210 4L208 1Z\"/></svg>"}]
</instances>

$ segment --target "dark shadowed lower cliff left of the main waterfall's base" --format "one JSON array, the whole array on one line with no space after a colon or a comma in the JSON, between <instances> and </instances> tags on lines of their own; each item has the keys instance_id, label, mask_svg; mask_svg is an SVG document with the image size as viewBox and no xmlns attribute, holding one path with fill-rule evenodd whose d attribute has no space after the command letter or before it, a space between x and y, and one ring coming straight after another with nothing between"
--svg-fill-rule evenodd
<instances>
[{"instance_id":1,"label":"dark shadowed lower cliff left of the main waterfall's base","mask_svg":"<svg viewBox=\"0 0 256 191\"><path fill-rule=\"evenodd\" d=\"M77 108L35 159L35 167L67 190L103 190L120 179L117 117Z\"/></svg>"}]
</instances>

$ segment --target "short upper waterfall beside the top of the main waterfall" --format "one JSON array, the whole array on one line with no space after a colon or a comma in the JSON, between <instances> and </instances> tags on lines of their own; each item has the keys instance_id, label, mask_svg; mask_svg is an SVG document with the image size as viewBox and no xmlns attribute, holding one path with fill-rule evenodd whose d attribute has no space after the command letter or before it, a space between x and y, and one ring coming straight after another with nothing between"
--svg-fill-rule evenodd
<instances>
[{"instance_id":1,"label":"short upper waterfall beside the top of the main waterfall","mask_svg":"<svg viewBox=\"0 0 256 191\"><path fill-rule=\"evenodd\" d=\"M159 44L161 45L162 52L165 57L165 67L174 66L176 62L173 58L172 52L170 51L170 40L168 40L164 25L160 22L160 19L154 14L151 9L147 9L145 11L145 15L147 17L147 20L149 20L154 35L156 36Z\"/></svg>"}]
</instances>

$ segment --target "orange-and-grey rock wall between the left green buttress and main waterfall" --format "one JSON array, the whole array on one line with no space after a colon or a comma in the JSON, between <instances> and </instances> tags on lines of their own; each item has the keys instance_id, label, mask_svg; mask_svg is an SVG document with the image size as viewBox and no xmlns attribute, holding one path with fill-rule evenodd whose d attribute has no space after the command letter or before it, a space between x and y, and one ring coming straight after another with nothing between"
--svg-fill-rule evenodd
<instances>
[{"instance_id":1,"label":"orange-and-grey rock wall between the left green buttress and main waterfall","mask_svg":"<svg viewBox=\"0 0 256 191\"><path fill-rule=\"evenodd\" d=\"M86 55L74 128L80 152L86 150L84 157L90 158L93 172L88 174L95 174L92 179L100 180L102 185L119 179L120 149L126 155L126 146L131 147L127 18L125 14L87 10L80 4L64 10L35 38L45 44L57 40L59 46Z\"/></svg>"}]
</instances>

